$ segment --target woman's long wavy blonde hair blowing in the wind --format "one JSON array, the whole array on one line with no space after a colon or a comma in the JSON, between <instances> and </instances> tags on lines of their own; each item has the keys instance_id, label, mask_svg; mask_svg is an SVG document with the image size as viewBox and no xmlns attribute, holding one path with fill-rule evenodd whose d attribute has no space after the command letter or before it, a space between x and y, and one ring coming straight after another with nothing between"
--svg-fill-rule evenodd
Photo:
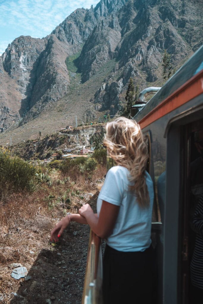
<instances>
[{"instance_id":1,"label":"woman's long wavy blonde hair blowing in the wind","mask_svg":"<svg viewBox=\"0 0 203 304\"><path fill-rule=\"evenodd\" d=\"M129 190L137 195L138 204L149 206L149 192L145 180L148 149L140 126L135 120L118 117L107 123L104 145L110 157L130 171L129 181L134 182Z\"/></svg>"}]
</instances>

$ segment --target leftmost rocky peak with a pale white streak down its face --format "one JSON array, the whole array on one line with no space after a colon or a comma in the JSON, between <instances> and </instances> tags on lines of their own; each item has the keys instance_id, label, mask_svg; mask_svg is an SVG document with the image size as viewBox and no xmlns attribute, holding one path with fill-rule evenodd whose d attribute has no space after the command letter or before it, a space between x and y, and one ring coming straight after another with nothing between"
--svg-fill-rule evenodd
<instances>
[{"instance_id":1,"label":"leftmost rocky peak with a pale white streak down its face","mask_svg":"<svg viewBox=\"0 0 203 304\"><path fill-rule=\"evenodd\" d=\"M44 48L45 40L20 36L9 44L2 55L1 131L9 128L29 110L29 100L36 81L37 61Z\"/></svg>"}]
</instances>

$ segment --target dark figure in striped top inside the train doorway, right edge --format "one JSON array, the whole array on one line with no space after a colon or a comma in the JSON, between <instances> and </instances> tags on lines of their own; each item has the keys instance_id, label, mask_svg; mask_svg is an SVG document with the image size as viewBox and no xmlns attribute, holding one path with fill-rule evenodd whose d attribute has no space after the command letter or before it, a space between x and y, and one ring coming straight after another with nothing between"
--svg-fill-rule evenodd
<instances>
[{"instance_id":1,"label":"dark figure in striped top inside the train doorway, right edge","mask_svg":"<svg viewBox=\"0 0 203 304\"><path fill-rule=\"evenodd\" d=\"M194 145L200 155L191 163L190 302L203 302L203 130L194 132Z\"/></svg>"}]
</instances>

